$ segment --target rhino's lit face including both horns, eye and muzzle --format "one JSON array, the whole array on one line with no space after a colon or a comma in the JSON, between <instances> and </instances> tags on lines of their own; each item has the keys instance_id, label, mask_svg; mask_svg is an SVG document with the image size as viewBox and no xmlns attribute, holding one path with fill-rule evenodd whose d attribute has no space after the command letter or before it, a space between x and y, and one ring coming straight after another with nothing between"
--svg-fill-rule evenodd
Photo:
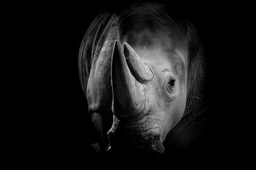
<instances>
[{"instance_id":1,"label":"rhino's lit face including both horns, eye and muzzle","mask_svg":"<svg viewBox=\"0 0 256 170\"><path fill-rule=\"evenodd\" d=\"M186 105L186 59L164 46L115 41L111 61L112 148L163 153L163 141Z\"/></svg>"}]
</instances>

